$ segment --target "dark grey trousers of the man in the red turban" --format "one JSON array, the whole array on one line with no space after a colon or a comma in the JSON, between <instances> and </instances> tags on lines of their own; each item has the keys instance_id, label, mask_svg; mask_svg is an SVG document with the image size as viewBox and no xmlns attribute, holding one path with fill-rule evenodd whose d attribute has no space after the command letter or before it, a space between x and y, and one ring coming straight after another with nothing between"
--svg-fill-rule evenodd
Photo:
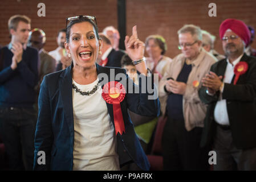
<instances>
[{"instance_id":1,"label":"dark grey trousers of the man in the red turban","mask_svg":"<svg viewBox=\"0 0 256 182\"><path fill-rule=\"evenodd\" d=\"M213 150L217 157L215 171L256 170L256 148L239 150L234 146L231 130L217 125Z\"/></svg>"}]
</instances>

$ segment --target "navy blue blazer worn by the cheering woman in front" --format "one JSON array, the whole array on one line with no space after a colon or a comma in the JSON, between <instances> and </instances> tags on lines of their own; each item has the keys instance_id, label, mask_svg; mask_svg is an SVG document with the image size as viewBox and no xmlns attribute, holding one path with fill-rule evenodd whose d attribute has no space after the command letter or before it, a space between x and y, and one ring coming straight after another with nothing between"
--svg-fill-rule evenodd
<instances>
[{"instance_id":1,"label":"navy blue blazer worn by the cheering woman in front","mask_svg":"<svg viewBox=\"0 0 256 182\"><path fill-rule=\"evenodd\" d=\"M39 113L35 131L35 170L72 170L73 168L72 67L73 65L62 71L46 75L40 86ZM105 73L108 76L108 80L99 77L101 86L104 82L113 81L110 76L113 70L115 76L118 73L125 74L126 80L123 81L131 81L126 75L125 69L112 68L111 71L111 68L101 67L98 64L96 64L96 68L98 77L100 73ZM144 76L144 78L146 77ZM150 86L153 86L153 77L147 77L147 79L151 79L152 84ZM115 81L122 81L122 78ZM133 86L135 85L133 84ZM125 133L116 135L120 166L133 161L143 170L148 170L150 167L128 114L129 109L140 115L158 116L160 113L159 99L157 97L155 100L148 100L149 95L148 92L141 93L140 88L140 93L125 94L124 100L120 103L125 125ZM113 126L115 126L113 106L107 102L106 104ZM38 164L38 158L41 156L38 155L39 151L45 152L46 164Z\"/></svg>"}]
</instances>

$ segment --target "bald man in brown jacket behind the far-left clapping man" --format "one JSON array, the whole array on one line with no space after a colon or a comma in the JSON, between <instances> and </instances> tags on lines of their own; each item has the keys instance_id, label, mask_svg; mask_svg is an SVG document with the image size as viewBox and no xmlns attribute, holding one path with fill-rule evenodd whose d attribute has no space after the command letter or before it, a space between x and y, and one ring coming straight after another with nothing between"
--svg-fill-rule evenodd
<instances>
[{"instance_id":1,"label":"bald man in brown jacket behind the far-left clapping man","mask_svg":"<svg viewBox=\"0 0 256 182\"><path fill-rule=\"evenodd\" d=\"M40 90L40 85L41 82L43 81L43 77L49 73L52 73L55 71L55 59L46 52L43 47L46 44L46 34L44 33L43 30L40 28L34 28L33 30L30 31L29 33L29 41L28 41L28 46L33 47L38 50L39 52L39 80L38 84L36 85L36 96L38 97L39 95L39 90ZM37 109L37 97L36 97L36 103L35 103L35 108Z\"/></svg>"}]
</instances>

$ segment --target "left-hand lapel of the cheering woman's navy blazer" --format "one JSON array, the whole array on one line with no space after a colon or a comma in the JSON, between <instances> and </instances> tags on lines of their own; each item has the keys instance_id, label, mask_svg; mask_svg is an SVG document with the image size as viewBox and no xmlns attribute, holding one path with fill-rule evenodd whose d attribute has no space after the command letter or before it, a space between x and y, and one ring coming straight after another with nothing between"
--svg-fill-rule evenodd
<instances>
[{"instance_id":1,"label":"left-hand lapel of the cheering woman's navy blazer","mask_svg":"<svg viewBox=\"0 0 256 182\"><path fill-rule=\"evenodd\" d=\"M64 115L70 132L74 132L74 116L72 102L72 70L73 64L65 69L60 75L59 92L63 102Z\"/></svg>"}]
</instances>

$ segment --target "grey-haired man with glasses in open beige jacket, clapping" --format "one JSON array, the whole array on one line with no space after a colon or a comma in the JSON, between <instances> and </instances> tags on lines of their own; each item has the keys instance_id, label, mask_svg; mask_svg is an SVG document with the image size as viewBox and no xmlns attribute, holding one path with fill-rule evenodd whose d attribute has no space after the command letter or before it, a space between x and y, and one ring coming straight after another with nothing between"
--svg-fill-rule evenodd
<instances>
[{"instance_id":1,"label":"grey-haired man with glasses in open beige jacket, clapping","mask_svg":"<svg viewBox=\"0 0 256 182\"><path fill-rule=\"evenodd\" d=\"M162 136L165 170L207 170L208 148L200 148L206 105L198 96L201 79L217 59L202 48L200 27L186 24L178 31L181 54L167 65L159 84L163 115Z\"/></svg>"}]
</instances>

